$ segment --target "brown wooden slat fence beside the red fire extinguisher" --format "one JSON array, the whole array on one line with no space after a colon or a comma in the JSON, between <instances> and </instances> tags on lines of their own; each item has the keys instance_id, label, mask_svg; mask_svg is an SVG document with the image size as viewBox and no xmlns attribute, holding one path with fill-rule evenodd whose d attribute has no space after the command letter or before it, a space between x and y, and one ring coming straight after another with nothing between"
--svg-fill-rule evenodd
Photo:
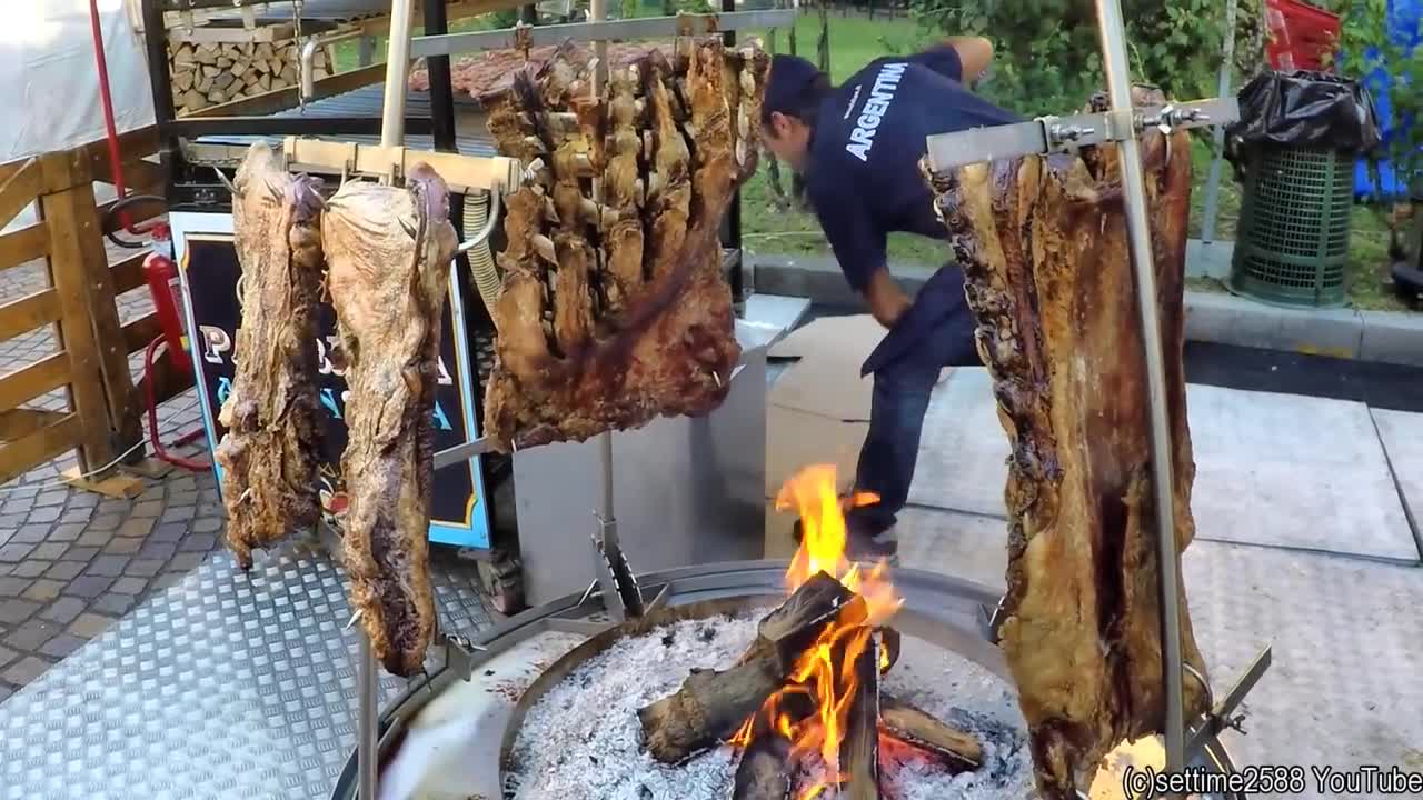
<instances>
[{"instance_id":1,"label":"brown wooden slat fence beside the red fire extinguisher","mask_svg":"<svg viewBox=\"0 0 1423 800\"><path fill-rule=\"evenodd\" d=\"M121 145L128 186L135 194L161 194L157 165L144 161L157 149L154 131L125 134ZM105 494L141 488L137 478L112 468L88 475L142 438L142 384L134 384L128 357L161 333L152 313L120 323L115 298L144 283L147 251L108 263L102 225L112 202L98 204L92 184L110 175L104 142L0 165L0 225L31 202L40 216L0 236L0 272L43 259L48 276L47 288L0 298L0 343L53 326L58 344L58 352L0 374L0 484L74 450L78 468L67 480ZM151 216L161 209L148 205L147 211ZM185 389L171 377L159 376L159 400ZM58 389L65 391L67 411L26 407Z\"/></svg>"}]
</instances>

